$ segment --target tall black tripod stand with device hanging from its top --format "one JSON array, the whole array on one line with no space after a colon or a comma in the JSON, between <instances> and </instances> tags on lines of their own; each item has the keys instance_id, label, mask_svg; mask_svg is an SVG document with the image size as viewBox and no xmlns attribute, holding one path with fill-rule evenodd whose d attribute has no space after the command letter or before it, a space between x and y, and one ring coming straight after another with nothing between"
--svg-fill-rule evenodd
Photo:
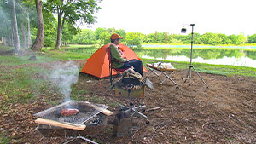
<instances>
[{"instance_id":1,"label":"tall black tripod stand with device hanging from its top","mask_svg":"<svg viewBox=\"0 0 256 144\"><path fill-rule=\"evenodd\" d=\"M204 81L203 78L201 78L200 74L195 70L195 67L192 65L192 54L193 54L193 34L194 34L194 26L195 24L190 24L190 26L192 26L192 33L191 33L191 52L190 52L190 65L189 65L189 69L184 72L183 74L183 78L181 78L181 81L178 85L181 84L181 82L183 81L183 79L185 80L184 82L186 82L187 79L189 79L189 85L191 85L191 69L193 68L193 70L195 71L195 73L198 75L198 77L201 79L201 81L208 87L208 85L206 84L206 82ZM184 29L182 29L182 32L184 32ZM176 89L178 89L178 86L176 86Z\"/></svg>"}]
</instances>

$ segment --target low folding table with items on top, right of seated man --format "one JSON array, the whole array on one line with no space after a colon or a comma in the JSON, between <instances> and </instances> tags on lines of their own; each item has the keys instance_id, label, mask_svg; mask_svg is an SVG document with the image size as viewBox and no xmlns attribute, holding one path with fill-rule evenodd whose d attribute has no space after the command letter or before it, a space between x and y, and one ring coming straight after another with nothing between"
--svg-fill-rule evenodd
<instances>
[{"instance_id":1,"label":"low folding table with items on top, right of seated man","mask_svg":"<svg viewBox=\"0 0 256 144\"><path fill-rule=\"evenodd\" d=\"M157 74L156 72L161 72L163 73L166 78L160 83L163 84L166 79L169 79L173 84L175 84L178 88L178 85L176 84L176 82L170 78L171 75L177 71L176 68L174 68L173 66L161 66L161 63L157 63L157 64L147 64L148 70L150 71L147 75L147 77L149 76L150 73L154 73L155 75L157 75L159 77L159 74ZM156 72L155 72L156 71ZM171 74L167 75L166 72L171 72Z\"/></svg>"}]
</instances>

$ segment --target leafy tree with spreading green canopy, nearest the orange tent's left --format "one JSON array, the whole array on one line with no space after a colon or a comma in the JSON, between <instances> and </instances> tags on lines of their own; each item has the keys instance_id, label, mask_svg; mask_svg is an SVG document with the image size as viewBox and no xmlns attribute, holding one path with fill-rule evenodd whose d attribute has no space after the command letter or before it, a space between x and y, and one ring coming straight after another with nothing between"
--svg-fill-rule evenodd
<instances>
[{"instance_id":1,"label":"leafy tree with spreading green canopy, nearest the orange tent's left","mask_svg":"<svg viewBox=\"0 0 256 144\"><path fill-rule=\"evenodd\" d=\"M96 22L96 17L93 16L100 7L97 2L102 0L47 0L44 6L49 12L57 14L58 26L57 26L57 41L55 49L60 49L61 33L65 22L68 24L75 24L80 20L81 23L93 24Z\"/></svg>"}]
</instances>

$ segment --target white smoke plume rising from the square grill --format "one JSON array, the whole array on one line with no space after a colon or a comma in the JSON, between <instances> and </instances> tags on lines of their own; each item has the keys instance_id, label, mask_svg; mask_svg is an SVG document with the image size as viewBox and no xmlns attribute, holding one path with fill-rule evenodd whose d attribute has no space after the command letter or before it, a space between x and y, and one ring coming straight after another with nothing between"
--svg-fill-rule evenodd
<instances>
[{"instance_id":1,"label":"white smoke plume rising from the square grill","mask_svg":"<svg viewBox=\"0 0 256 144\"><path fill-rule=\"evenodd\" d=\"M50 74L50 80L60 90L60 93L65 95L65 101L70 100L71 85L78 82L79 66L73 61L68 61L65 64L54 66L54 71Z\"/></svg>"}]
</instances>

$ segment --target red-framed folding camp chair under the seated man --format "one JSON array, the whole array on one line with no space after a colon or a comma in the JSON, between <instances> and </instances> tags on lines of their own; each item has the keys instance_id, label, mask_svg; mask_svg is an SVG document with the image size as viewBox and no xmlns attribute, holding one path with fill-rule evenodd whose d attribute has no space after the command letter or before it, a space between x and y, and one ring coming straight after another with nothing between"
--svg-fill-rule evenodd
<instances>
[{"instance_id":1,"label":"red-framed folding camp chair under the seated man","mask_svg":"<svg viewBox=\"0 0 256 144\"><path fill-rule=\"evenodd\" d=\"M107 55L108 55L108 60L109 60L110 83L111 83L111 85L112 85L113 79L116 78L116 77L113 78L112 71L114 71L114 72L117 73L116 76L119 76L120 72L125 72L125 70L127 70L128 68L125 68L125 69L114 68L113 65L112 65L112 61L113 61L114 59L111 58L110 47L106 48L106 53L107 53ZM115 61L116 61L116 60L115 60ZM118 61L118 62L120 62L120 61Z\"/></svg>"}]
</instances>

